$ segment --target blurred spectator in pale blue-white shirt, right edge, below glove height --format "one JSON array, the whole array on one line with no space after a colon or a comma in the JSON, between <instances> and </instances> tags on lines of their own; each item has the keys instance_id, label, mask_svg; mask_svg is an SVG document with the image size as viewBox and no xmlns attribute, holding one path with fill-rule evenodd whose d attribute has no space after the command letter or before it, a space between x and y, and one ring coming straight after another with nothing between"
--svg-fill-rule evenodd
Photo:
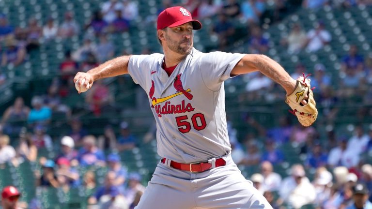
<instances>
[{"instance_id":1,"label":"blurred spectator in pale blue-white shirt, right edge, below glove height","mask_svg":"<svg viewBox=\"0 0 372 209\"><path fill-rule=\"evenodd\" d=\"M369 136L364 132L362 125L357 125L353 136L349 139L347 143L347 149L352 149L354 154L359 155L367 150L367 145L369 141Z\"/></svg>"}]
</instances>

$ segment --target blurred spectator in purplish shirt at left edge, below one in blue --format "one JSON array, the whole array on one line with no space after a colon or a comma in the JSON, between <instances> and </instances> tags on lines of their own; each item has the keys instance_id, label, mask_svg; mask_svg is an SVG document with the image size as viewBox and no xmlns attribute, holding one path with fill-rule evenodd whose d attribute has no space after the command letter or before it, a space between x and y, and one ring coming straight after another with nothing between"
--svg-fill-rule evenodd
<instances>
[{"instance_id":1,"label":"blurred spectator in purplish shirt at left edge, below one in blue","mask_svg":"<svg viewBox=\"0 0 372 209\"><path fill-rule=\"evenodd\" d=\"M5 39L6 49L2 52L1 66L12 64L18 66L23 63L26 57L26 49L19 45L13 37Z\"/></svg>"}]
</instances>

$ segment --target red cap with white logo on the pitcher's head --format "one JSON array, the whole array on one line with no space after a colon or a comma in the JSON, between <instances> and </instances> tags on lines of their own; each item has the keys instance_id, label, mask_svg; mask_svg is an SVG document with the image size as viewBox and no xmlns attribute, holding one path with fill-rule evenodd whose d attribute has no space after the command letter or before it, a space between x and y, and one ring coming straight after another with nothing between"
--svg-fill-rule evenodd
<instances>
[{"instance_id":1,"label":"red cap with white logo on the pitcher's head","mask_svg":"<svg viewBox=\"0 0 372 209\"><path fill-rule=\"evenodd\" d=\"M180 26L188 22L192 23L193 30L202 28L202 23L192 19L191 13L185 8L180 6L170 7L157 16L157 30Z\"/></svg>"}]
</instances>

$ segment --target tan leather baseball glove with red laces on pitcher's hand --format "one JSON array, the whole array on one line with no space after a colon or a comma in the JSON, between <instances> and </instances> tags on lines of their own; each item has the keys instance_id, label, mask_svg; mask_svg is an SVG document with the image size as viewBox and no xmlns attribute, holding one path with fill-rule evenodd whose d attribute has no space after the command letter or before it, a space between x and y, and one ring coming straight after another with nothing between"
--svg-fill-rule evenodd
<instances>
[{"instance_id":1,"label":"tan leather baseball glove with red laces on pitcher's hand","mask_svg":"<svg viewBox=\"0 0 372 209\"><path fill-rule=\"evenodd\" d=\"M292 94L287 95L285 103L292 108L290 112L297 117L298 121L307 127L315 122L318 110L315 107L314 95L310 88L310 79L307 78L309 75L302 75L297 78L296 89ZM306 95L308 95L308 103L303 105L301 101L304 100Z\"/></svg>"}]
</instances>

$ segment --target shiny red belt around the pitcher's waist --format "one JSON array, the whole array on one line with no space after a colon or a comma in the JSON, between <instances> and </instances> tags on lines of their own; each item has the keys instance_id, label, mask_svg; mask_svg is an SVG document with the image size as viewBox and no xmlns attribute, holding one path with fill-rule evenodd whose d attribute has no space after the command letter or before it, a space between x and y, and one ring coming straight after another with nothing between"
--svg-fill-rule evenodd
<instances>
[{"instance_id":1,"label":"shiny red belt around the pitcher's waist","mask_svg":"<svg viewBox=\"0 0 372 209\"><path fill-rule=\"evenodd\" d=\"M167 160L166 158L163 158L161 159L161 162L165 164L166 160ZM224 165L226 165L226 161L224 159L222 158L216 159L216 167L224 166ZM208 163L208 161L205 161L202 163L191 163L191 164L183 164L183 163L177 163L177 162L171 161L171 167L179 169L179 170L190 171L191 173L196 173L196 172L203 172L203 171L211 169L212 164Z\"/></svg>"}]
</instances>

